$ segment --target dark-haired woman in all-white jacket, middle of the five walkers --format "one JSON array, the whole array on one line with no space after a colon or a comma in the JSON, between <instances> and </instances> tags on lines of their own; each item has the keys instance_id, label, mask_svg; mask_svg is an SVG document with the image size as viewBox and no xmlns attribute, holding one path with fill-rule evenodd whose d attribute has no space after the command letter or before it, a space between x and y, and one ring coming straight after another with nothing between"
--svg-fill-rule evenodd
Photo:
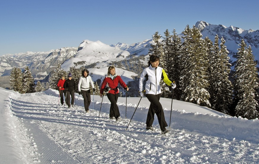
<instances>
[{"instance_id":1,"label":"dark-haired woman in all-white jacket, middle of the five walkers","mask_svg":"<svg viewBox=\"0 0 259 164\"><path fill-rule=\"evenodd\" d=\"M82 76L80 77L78 82L79 95L82 94L84 98L85 111L87 113L89 112L89 106L91 103L90 85L92 86L93 91L95 92L93 80L90 76L88 76L88 74L89 74L89 71L87 69L84 69L82 71Z\"/></svg>"}]
</instances>

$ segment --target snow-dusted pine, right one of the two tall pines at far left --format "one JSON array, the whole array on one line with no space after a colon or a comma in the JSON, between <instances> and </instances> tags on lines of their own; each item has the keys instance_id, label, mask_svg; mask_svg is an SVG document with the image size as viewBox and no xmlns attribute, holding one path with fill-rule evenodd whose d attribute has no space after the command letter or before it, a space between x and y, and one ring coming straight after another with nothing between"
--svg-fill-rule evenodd
<instances>
[{"instance_id":1,"label":"snow-dusted pine, right one of the two tall pines at far left","mask_svg":"<svg viewBox=\"0 0 259 164\"><path fill-rule=\"evenodd\" d=\"M23 93L34 93L34 86L34 78L32 77L29 67L26 66L26 68L23 71Z\"/></svg>"}]
</instances>

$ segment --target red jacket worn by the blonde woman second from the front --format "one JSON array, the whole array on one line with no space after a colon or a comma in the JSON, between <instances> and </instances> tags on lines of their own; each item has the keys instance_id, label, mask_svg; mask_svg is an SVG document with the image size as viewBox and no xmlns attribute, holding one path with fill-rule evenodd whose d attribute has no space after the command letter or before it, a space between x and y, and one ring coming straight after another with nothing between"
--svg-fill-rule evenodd
<instances>
[{"instance_id":1,"label":"red jacket worn by the blonde woman second from the front","mask_svg":"<svg viewBox=\"0 0 259 164\"><path fill-rule=\"evenodd\" d=\"M118 89L119 83L120 83L120 86L122 86L123 88L127 87L127 85L125 84L125 82L123 82L123 80L119 75L115 74L113 79L110 76L105 77L101 85L100 93L103 94L104 89L107 87L111 88L111 90L109 90L109 92L106 92L106 93L112 93L112 94L119 93L119 89Z\"/></svg>"}]
</instances>

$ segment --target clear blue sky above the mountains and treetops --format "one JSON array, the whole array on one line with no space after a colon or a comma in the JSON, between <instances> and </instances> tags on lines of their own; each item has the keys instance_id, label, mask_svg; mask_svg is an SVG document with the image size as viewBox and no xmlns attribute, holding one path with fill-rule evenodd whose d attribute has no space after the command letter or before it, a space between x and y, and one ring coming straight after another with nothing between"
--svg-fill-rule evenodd
<instances>
[{"instance_id":1,"label":"clear blue sky above the mountains and treetops","mask_svg":"<svg viewBox=\"0 0 259 164\"><path fill-rule=\"evenodd\" d=\"M258 0L4 0L0 55L78 47L85 40L132 44L199 20L259 29Z\"/></svg>"}]
</instances>

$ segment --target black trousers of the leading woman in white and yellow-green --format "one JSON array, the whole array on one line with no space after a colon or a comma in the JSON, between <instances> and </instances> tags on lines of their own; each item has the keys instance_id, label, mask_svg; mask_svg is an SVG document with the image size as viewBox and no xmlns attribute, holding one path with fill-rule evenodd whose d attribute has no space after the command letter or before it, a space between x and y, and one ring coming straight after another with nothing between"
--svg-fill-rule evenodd
<instances>
[{"instance_id":1,"label":"black trousers of the leading woman in white and yellow-green","mask_svg":"<svg viewBox=\"0 0 259 164\"><path fill-rule=\"evenodd\" d=\"M148 101L150 101L149 110L147 112L147 126L152 126L154 122L154 116L156 114L158 118L158 123L160 125L160 129L167 127L167 123L165 120L165 114L163 111L163 107L159 102L161 94L153 95L153 94L146 94Z\"/></svg>"}]
</instances>

